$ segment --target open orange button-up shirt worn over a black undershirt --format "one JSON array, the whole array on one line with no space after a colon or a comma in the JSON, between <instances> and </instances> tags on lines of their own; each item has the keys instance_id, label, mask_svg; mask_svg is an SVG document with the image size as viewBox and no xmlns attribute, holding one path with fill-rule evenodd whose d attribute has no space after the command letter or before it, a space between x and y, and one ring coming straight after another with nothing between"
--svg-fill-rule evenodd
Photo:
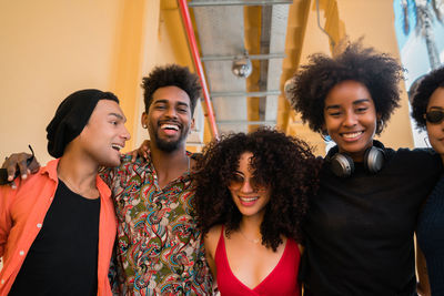
<instances>
[{"instance_id":1,"label":"open orange button-up shirt worn over a black undershirt","mask_svg":"<svg viewBox=\"0 0 444 296\"><path fill-rule=\"evenodd\" d=\"M44 216L51 206L59 185L57 166L50 161L39 173L20 182L17 190L0 186L0 296L8 295L33 241L39 234ZM111 192L97 176L100 194L98 295L112 295L108 271L114 245L117 220Z\"/></svg>"}]
</instances>

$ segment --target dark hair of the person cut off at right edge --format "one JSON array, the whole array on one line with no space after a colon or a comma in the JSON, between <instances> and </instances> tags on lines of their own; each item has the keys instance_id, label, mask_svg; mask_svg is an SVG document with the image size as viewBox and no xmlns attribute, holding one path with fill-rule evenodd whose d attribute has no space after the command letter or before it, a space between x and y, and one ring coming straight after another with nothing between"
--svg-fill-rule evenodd
<instances>
[{"instance_id":1,"label":"dark hair of the person cut off at right edge","mask_svg":"<svg viewBox=\"0 0 444 296\"><path fill-rule=\"evenodd\" d=\"M420 82L412 102L412 118L416 127L425 130L426 121L424 114L427 111L428 100L437 88L444 88L444 67L426 74Z\"/></svg>"}]
</instances>

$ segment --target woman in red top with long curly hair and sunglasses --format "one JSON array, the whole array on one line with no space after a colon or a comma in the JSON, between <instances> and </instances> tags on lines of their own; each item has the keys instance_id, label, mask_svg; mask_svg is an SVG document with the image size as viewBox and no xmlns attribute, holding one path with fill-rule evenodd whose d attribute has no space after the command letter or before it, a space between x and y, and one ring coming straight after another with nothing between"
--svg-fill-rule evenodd
<instances>
[{"instance_id":1,"label":"woman in red top with long curly hair and sunglasses","mask_svg":"<svg viewBox=\"0 0 444 296\"><path fill-rule=\"evenodd\" d=\"M297 244L321 162L303 141L264 127L204 149L195 211L221 295L300 295Z\"/></svg>"}]
</instances>

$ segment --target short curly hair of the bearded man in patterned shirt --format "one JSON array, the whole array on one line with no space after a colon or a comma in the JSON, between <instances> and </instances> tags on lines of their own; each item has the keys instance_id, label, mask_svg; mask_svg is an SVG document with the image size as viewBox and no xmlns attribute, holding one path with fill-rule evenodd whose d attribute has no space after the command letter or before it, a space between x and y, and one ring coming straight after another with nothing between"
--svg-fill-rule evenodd
<instances>
[{"instance_id":1,"label":"short curly hair of the bearded man in patterned shirt","mask_svg":"<svg viewBox=\"0 0 444 296\"><path fill-rule=\"evenodd\" d=\"M148 76L142 79L141 86L144 90L145 112L149 111L152 103L152 95L158 89L178 86L186 92L190 98L191 115L194 114L195 104L201 96L202 90L199 76L191 73L188 67L180 67L178 64L155 67Z\"/></svg>"}]
</instances>

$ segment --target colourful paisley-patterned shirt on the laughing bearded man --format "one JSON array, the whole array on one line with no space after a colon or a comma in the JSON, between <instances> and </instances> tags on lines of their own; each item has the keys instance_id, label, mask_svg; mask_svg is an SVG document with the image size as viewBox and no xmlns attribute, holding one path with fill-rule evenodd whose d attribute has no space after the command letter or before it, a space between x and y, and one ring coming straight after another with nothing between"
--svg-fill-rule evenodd
<instances>
[{"instance_id":1,"label":"colourful paisley-patterned shirt on the laughing bearded man","mask_svg":"<svg viewBox=\"0 0 444 296\"><path fill-rule=\"evenodd\" d=\"M118 216L120 295L211 295L212 279L193 217L190 173L161 188L151 161L102 172Z\"/></svg>"}]
</instances>

